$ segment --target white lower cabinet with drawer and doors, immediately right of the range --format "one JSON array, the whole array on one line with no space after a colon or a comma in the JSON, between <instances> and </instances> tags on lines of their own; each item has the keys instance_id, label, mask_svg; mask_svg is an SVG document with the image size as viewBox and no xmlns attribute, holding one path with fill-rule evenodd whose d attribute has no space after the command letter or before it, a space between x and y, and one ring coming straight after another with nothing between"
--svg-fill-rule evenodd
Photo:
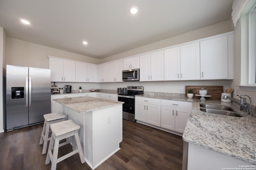
<instances>
[{"instance_id":1,"label":"white lower cabinet with drawer and doors, immediately right of the range","mask_svg":"<svg viewBox=\"0 0 256 170\"><path fill-rule=\"evenodd\" d=\"M153 98L135 97L135 119L160 126L161 100Z\"/></svg>"}]
</instances>

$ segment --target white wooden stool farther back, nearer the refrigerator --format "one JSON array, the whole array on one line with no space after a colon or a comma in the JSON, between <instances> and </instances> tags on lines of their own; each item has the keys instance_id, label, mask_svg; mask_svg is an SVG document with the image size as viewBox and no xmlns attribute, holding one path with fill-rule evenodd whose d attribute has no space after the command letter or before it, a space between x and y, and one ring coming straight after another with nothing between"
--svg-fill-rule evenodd
<instances>
[{"instance_id":1,"label":"white wooden stool farther back, nearer the refrigerator","mask_svg":"<svg viewBox=\"0 0 256 170\"><path fill-rule=\"evenodd\" d=\"M57 122L65 121L65 120L66 120L66 115L63 115L60 112L48 113L48 114L44 115L44 126L43 126L43 130L42 130L41 139L39 142L39 145L42 145L44 143L42 154L46 153L47 143L51 139L51 138L48 138L49 131L50 131L50 125L52 123L57 123Z\"/></svg>"}]
</instances>

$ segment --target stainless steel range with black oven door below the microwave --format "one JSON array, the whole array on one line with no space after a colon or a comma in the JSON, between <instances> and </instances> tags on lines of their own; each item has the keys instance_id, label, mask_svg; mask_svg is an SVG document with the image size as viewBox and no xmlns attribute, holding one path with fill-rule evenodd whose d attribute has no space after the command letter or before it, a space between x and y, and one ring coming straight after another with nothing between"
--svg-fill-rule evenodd
<instances>
[{"instance_id":1,"label":"stainless steel range with black oven door below the microwave","mask_svg":"<svg viewBox=\"0 0 256 170\"><path fill-rule=\"evenodd\" d=\"M123 119L136 122L135 120L135 96L144 94L143 86L127 86L126 93L118 94L118 101L123 104Z\"/></svg>"}]
</instances>

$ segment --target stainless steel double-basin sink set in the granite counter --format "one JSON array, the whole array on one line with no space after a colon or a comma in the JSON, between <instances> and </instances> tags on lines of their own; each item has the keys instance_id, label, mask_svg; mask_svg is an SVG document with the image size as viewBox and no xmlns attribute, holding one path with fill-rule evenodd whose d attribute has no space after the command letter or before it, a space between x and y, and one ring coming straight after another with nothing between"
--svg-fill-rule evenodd
<instances>
[{"instance_id":1,"label":"stainless steel double-basin sink set in the granite counter","mask_svg":"<svg viewBox=\"0 0 256 170\"><path fill-rule=\"evenodd\" d=\"M200 110L206 113L214 113L219 115L244 117L239 113L236 113L234 109L228 106L212 105L212 104L200 104Z\"/></svg>"}]
</instances>

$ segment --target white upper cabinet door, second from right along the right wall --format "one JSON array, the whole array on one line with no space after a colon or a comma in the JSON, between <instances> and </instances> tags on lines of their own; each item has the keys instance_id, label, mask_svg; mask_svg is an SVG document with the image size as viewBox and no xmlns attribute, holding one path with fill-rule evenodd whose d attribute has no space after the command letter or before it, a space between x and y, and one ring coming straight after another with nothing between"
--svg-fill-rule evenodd
<instances>
[{"instance_id":1,"label":"white upper cabinet door, second from right along the right wall","mask_svg":"<svg viewBox=\"0 0 256 170\"><path fill-rule=\"evenodd\" d=\"M180 46L180 80L200 79L200 45Z\"/></svg>"}]
</instances>

